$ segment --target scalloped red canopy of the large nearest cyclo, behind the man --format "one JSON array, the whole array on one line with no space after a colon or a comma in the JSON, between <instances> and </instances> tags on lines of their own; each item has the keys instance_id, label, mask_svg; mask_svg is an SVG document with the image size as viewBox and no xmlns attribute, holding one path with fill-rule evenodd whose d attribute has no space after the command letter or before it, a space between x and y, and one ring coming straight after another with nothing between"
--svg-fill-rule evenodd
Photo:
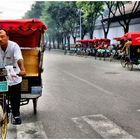
<instances>
[{"instance_id":1,"label":"scalloped red canopy of the large nearest cyclo, behind the man","mask_svg":"<svg viewBox=\"0 0 140 140\"><path fill-rule=\"evenodd\" d=\"M41 33L47 30L39 19L0 20L0 28L7 30L10 40L20 47L39 47Z\"/></svg>"}]
</instances>

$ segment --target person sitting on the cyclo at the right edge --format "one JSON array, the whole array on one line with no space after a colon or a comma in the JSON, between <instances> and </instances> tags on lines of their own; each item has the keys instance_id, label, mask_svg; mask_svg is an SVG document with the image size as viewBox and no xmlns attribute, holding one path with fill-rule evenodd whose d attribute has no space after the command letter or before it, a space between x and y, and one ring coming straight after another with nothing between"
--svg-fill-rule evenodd
<instances>
[{"instance_id":1,"label":"person sitting on the cyclo at the right edge","mask_svg":"<svg viewBox=\"0 0 140 140\"><path fill-rule=\"evenodd\" d=\"M124 47L122 48L121 52L124 52L123 58L127 62L129 61L128 54L129 54L129 47L132 45L132 39L129 38L126 40Z\"/></svg>"}]
</instances>

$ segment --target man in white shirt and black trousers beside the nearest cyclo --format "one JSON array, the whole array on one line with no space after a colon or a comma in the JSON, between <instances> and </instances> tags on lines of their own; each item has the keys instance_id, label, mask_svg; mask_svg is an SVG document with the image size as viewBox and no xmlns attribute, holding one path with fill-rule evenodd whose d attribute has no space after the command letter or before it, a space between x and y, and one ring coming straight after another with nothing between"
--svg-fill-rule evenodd
<instances>
[{"instance_id":1,"label":"man in white shirt and black trousers beside the nearest cyclo","mask_svg":"<svg viewBox=\"0 0 140 140\"><path fill-rule=\"evenodd\" d=\"M0 29L0 63L4 66L12 65L16 76L9 83L8 95L10 97L13 114L13 124L21 124L20 98L22 76L26 75L24 61L19 45L9 40L8 32Z\"/></svg>"}]
</instances>

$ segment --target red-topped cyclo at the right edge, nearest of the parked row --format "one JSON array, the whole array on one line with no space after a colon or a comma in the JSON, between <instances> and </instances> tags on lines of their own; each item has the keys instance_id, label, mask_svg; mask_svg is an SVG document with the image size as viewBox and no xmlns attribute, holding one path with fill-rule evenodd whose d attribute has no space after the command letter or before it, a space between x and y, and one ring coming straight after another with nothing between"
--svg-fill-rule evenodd
<instances>
[{"instance_id":1,"label":"red-topped cyclo at the right edge, nearest of the parked row","mask_svg":"<svg viewBox=\"0 0 140 140\"><path fill-rule=\"evenodd\" d=\"M133 65L140 64L140 32L128 32L124 35L125 40L131 39L132 44L128 48L127 59L121 58L122 67L128 68L128 70L133 70Z\"/></svg>"}]
</instances>

